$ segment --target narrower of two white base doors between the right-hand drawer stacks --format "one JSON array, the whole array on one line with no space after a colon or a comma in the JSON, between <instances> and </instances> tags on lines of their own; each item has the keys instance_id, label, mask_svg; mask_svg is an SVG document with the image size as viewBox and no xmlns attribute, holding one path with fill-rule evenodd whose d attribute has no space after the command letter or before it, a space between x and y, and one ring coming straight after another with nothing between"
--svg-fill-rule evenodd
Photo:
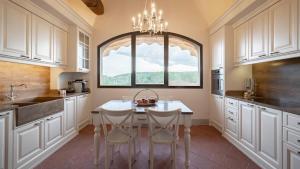
<instances>
[{"instance_id":1,"label":"narrower of two white base doors between the right-hand drawer stacks","mask_svg":"<svg viewBox=\"0 0 300 169\"><path fill-rule=\"evenodd\" d=\"M240 102L239 140L249 149L255 151L255 107L253 104Z\"/></svg>"}]
</instances>

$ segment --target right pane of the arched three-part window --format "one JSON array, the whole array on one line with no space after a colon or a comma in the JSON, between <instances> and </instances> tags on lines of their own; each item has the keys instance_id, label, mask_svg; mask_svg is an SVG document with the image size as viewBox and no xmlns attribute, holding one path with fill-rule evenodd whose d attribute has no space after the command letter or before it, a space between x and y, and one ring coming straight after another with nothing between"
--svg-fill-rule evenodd
<instances>
[{"instance_id":1,"label":"right pane of the arched three-part window","mask_svg":"<svg viewBox=\"0 0 300 169\"><path fill-rule=\"evenodd\" d=\"M200 86L199 46L169 37L169 86Z\"/></svg>"}]
</instances>

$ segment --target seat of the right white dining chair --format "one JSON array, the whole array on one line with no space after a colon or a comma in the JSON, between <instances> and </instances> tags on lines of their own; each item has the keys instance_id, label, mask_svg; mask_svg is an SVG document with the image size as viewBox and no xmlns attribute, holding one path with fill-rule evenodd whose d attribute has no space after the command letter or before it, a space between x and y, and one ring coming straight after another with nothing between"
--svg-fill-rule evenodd
<instances>
[{"instance_id":1,"label":"seat of the right white dining chair","mask_svg":"<svg viewBox=\"0 0 300 169\"><path fill-rule=\"evenodd\" d=\"M152 136L152 141L154 143L170 144L176 141L176 137L174 137L173 132L170 132L167 129L163 129Z\"/></svg>"}]
</instances>

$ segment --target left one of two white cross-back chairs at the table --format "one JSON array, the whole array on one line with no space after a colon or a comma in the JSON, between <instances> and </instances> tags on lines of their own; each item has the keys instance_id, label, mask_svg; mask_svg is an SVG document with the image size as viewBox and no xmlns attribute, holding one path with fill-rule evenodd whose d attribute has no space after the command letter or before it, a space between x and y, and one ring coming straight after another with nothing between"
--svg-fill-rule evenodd
<instances>
[{"instance_id":1,"label":"left one of two white cross-back chairs at the table","mask_svg":"<svg viewBox=\"0 0 300 169\"><path fill-rule=\"evenodd\" d=\"M133 109L117 111L102 108L100 110L105 140L105 169L109 169L109 162L111 163L113 160L113 147L121 144L128 144L128 168L131 169L132 148L135 156L135 139L137 136L137 132L132 127L133 113ZM110 129L108 129L109 125L111 125Z\"/></svg>"}]
</instances>

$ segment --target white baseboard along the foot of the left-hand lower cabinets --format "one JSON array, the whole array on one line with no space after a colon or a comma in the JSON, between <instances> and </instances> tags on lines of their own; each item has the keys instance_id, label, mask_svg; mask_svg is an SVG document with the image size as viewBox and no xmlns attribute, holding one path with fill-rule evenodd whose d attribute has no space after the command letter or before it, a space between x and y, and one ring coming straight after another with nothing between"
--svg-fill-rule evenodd
<instances>
[{"instance_id":1,"label":"white baseboard along the foot of the left-hand lower cabinets","mask_svg":"<svg viewBox=\"0 0 300 169\"><path fill-rule=\"evenodd\" d=\"M37 155L35 158L31 159L27 163L23 164L22 166L18 167L18 169L32 169L39 165L41 162L43 162L45 159L47 159L49 156L51 156L53 153L55 153L57 150L59 150L62 146L64 146L66 143L71 141L74 137L78 135L77 131L74 131L64 138L57 142L56 144L48 147L45 149L41 154Z\"/></svg>"}]
</instances>

